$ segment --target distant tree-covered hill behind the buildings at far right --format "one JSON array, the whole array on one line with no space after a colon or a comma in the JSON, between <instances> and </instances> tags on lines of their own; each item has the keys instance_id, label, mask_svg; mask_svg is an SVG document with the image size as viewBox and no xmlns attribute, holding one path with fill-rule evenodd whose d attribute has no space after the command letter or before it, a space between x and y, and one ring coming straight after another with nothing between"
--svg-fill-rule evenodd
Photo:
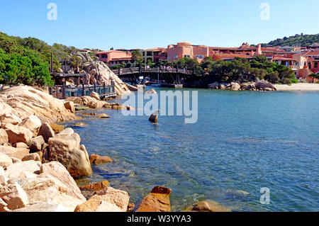
<instances>
[{"instance_id":1,"label":"distant tree-covered hill behind the buildings at far right","mask_svg":"<svg viewBox=\"0 0 319 226\"><path fill-rule=\"evenodd\" d=\"M293 35L290 37L278 38L273 40L269 43L264 43L262 46L291 46L291 45L298 45L298 46L308 46L313 45L315 43L319 43L319 34L317 35Z\"/></svg>"}]
</instances>

